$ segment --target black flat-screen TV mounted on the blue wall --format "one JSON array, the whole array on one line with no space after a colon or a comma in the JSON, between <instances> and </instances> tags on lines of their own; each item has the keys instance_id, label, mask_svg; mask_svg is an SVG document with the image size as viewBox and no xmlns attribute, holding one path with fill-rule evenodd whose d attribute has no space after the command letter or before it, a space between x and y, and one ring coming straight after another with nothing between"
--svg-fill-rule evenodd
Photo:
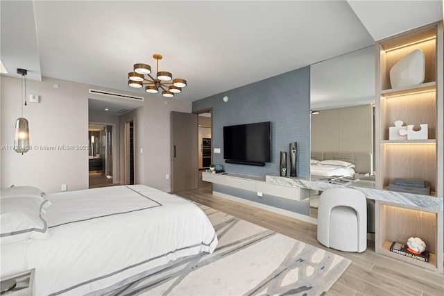
<instances>
[{"instance_id":1,"label":"black flat-screen TV mounted on the blue wall","mask_svg":"<svg viewBox=\"0 0 444 296\"><path fill-rule=\"evenodd\" d=\"M271 122L223 126L225 163L271 163Z\"/></svg>"}]
</instances>

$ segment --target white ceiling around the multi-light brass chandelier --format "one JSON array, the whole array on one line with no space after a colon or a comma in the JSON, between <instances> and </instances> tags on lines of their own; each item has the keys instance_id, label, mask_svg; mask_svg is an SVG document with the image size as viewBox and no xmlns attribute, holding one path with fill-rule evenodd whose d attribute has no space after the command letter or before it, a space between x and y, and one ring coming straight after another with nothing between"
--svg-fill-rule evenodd
<instances>
[{"instance_id":1,"label":"white ceiling around the multi-light brass chandelier","mask_svg":"<svg viewBox=\"0 0 444 296\"><path fill-rule=\"evenodd\" d=\"M195 101L436 22L443 1L2 0L0 13L2 75L141 95L128 72L162 54L160 70L188 82L174 99Z\"/></svg>"}]
</instances>

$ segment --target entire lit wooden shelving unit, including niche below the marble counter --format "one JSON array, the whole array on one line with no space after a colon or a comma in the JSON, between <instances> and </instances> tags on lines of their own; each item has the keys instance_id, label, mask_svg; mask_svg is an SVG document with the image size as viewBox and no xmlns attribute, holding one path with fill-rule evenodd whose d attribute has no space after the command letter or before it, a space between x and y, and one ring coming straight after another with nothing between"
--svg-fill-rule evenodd
<instances>
[{"instance_id":1,"label":"entire lit wooden shelving unit, including niche below the marble counter","mask_svg":"<svg viewBox=\"0 0 444 296\"><path fill-rule=\"evenodd\" d=\"M377 188L387 189L396 178L422 179L432 196L443 198L443 24L436 22L376 42L376 172ZM392 88L390 70L412 51L425 54L425 80L418 85ZM395 121L420 127L427 124L426 140L390 140ZM377 203L376 252L443 272L443 211ZM441 229L441 230L440 230ZM426 241L429 263L404 258L388 249L410 236Z\"/></svg>"}]
</instances>

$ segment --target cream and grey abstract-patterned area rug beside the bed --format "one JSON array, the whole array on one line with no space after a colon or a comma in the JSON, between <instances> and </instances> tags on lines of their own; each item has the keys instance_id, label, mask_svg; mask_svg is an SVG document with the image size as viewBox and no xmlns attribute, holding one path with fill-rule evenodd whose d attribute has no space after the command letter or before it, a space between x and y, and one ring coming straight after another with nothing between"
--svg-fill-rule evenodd
<instances>
[{"instance_id":1,"label":"cream and grey abstract-patterned area rug beside the bed","mask_svg":"<svg viewBox=\"0 0 444 296\"><path fill-rule=\"evenodd\" d=\"M213 254L174 261L107 295L323 295L348 258L202 206L216 229Z\"/></svg>"}]
</instances>

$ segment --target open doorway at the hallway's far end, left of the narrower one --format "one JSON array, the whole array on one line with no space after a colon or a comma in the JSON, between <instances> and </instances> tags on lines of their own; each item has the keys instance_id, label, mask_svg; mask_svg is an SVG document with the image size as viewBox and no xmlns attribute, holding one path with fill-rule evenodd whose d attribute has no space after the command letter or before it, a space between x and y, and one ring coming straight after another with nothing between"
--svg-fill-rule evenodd
<instances>
[{"instance_id":1,"label":"open doorway at the hallway's far end, left of the narrower one","mask_svg":"<svg viewBox=\"0 0 444 296\"><path fill-rule=\"evenodd\" d=\"M112 125L89 124L89 188L112 186Z\"/></svg>"}]
</instances>

